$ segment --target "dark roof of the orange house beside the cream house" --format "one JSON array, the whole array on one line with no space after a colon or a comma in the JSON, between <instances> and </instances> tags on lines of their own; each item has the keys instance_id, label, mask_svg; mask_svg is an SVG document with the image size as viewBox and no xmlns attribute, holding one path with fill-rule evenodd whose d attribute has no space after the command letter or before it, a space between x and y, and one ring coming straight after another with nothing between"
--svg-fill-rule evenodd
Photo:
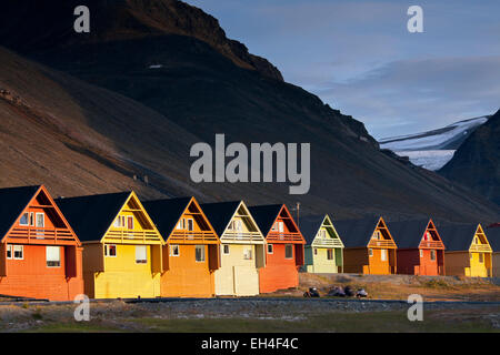
<instances>
[{"instance_id":1,"label":"dark roof of the orange house beside the cream house","mask_svg":"<svg viewBox=\"0 0 500 355\"><path fill-rule=\"evenodd\" d=\"M142 203L160 234L167 241L192 197L163 199Z\"/></svg>"}]
</instances>

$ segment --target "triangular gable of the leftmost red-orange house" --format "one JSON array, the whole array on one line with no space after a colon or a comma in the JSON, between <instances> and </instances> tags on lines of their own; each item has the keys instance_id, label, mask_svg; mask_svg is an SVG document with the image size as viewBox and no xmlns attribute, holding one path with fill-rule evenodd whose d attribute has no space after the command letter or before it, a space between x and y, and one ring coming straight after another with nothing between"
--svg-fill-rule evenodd
<instances>
[{"instance_id":1,"label":"triangular gable of the leftmost red-orange house","mask_svg":"<svg viewBox=\"0 0 500 355\"><path fill-rule=\"evenodd\" d=\"M52 199L52 196L50 195L50 193L46 189L46 186L43 186L43 185L27 186L27 187L13 187L13 189L6 189L6 190L10 190L11 196L18 195L19 197L22 196L22 199L21 199L21 201L17 202L14 204L18 207L16 207L14 205L12 206L13 209L12 209L11 215L17 215L17 216L11 221L10 227L7 230L7 232L3 233L2 240L1 240L2 242L4 242L7 237L13 237L13 236L16 236L16 240L18 242L20 242L20 240L22 239L22 235L24 234L22 232L22 230L23 229L26 230L28 226L27 227L17 226L18 222L21 219L21 216L26 212L29 211L30 207L37 207L37 209L42 209L44 211L46 215L50 219L51 223L54 224L54 229L68 230L68 232L60 233L60 235L58 236L58 239L61 242L64 242L64 244L67 244L68 242L70 242L70 243L73 242L77 245L81 245L80 240L76 235L73 229L66 220L64 215L62 214L59 206L56 204L54 200ZM13 194L12 194L12 192L13 192ZM28 201L26 201L24 197L29 196L30 194L31 194L31 196L29 197ZM0 195L0 200L1 200L1 195ZM19 211L19 206L22 206L22 209L20 211ZM48 242L50 240L54 240L54 236L52 236L50 234L50 232L47 231L41 235L41 237L36 237L31 242L37 242L37 244L43 244L43 242ZM28 241L24 241L24 242L28 242Z\"/></svg>"}]
</instances>

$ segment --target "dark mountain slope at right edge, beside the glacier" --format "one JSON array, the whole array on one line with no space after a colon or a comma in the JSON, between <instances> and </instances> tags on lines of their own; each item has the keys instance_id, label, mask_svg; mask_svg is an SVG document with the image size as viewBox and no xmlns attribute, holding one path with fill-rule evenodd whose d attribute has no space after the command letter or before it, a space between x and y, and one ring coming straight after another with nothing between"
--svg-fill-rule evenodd
<instances>
[{"instance_id":1,"label":"dark mountain slope at right edge, beside the glacier","mask_svg":"<svg viewBox=\"0 0 500 355\"><path fill-rule=\"evenodd\" d=\"M460 145L439 173L500 204L500 110Z\"/></svg>"}]
</instances>

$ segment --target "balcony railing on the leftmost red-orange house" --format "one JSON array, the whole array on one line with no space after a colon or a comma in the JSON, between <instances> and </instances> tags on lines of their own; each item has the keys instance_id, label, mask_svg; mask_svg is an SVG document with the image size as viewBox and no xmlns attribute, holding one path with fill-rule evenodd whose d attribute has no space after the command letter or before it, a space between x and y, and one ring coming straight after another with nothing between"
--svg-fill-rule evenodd
<instances>
[{"instance_id":1,"label":"balcony railing on the leftmost red-orange house","mask_svg":"<svg viewBox=\"0 0 500 355\"><path fill-rule=\"evenodd\" d=\"M73 235L67 229L47 229L47 227L14 227L9 233L9 239L12 241L26 242L28 244L42 244L50 242L56 244L60 242L68 244L74 242Z\"/></svg>"}]
</instances>

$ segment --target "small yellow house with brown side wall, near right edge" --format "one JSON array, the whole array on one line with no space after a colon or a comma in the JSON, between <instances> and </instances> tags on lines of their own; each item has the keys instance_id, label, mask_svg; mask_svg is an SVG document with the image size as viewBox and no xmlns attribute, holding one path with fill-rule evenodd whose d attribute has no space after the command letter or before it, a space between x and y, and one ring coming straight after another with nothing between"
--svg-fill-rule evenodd
<instances>
[{"instance_id":1,"label":"small yellow house with brown side wall, near right edge","mask_svg":"<svg viewBox=\"0 0 500 355\"><path fill-rule=\"evenodd\" d=\"M492 250L480 224L444 224L439 233L447 247L447 275L491 277Z\"/></svg>"}]
</instances>

